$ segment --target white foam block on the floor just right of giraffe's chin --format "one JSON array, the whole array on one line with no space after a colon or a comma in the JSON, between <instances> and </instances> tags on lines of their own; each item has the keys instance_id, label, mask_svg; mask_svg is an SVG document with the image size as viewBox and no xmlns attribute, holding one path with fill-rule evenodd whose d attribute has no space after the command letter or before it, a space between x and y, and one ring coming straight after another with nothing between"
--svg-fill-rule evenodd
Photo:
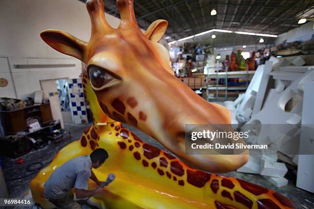
<instances>
[{"instance_id":1,"label":"white foam block on the floor just right of giraffe's chin","mask_svg":"<svg viewBox=\"0 0 314 209\"><path fill-rule=\"evenodd\" d=\"M287 171L285 163L273 163L265 159L261 161L261 175L263 176L284 177Z\"/></svg>"}]
</instances>

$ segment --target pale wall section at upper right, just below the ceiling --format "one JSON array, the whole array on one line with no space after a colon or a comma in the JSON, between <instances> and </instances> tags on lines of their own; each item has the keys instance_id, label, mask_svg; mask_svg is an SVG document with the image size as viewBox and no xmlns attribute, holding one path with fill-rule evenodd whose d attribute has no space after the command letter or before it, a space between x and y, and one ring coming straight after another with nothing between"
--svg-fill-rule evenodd
<instances>
[{"instance_id":1,"label":"pale wall section at upper right, just below the ceiling","mask_svg":"<svg viewBox=\"0 0 314 209\"><path fill-rule=\"evenodd\" d=\"M276 45L281 44L283 43L284 40L287 40L287 43L297 40L306 41L309 40L313 34L314 34L314 21L310 21L299 28L295 28L289 30L286 33L280 34L277 37L275 44Z\"/></svg>"}]
</instances>

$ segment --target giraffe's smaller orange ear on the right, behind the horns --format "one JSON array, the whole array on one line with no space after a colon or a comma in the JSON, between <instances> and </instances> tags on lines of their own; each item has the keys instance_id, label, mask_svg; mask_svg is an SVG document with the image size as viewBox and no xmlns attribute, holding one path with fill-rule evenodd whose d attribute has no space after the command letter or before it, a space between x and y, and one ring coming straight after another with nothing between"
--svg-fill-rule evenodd
<instances>
[{"instance_id":1,"label":"giraffe's smaller orange ear on the right, behind the horns","mask_svg":"<svg viewBox=\"0 0 314 209\"><path fill-rule=\"evenodd\" d=\"M168 22L164 19L155 20L145 31L145 35L149 40L158 42L165 34Z\"/></svg>"}]
</instances>

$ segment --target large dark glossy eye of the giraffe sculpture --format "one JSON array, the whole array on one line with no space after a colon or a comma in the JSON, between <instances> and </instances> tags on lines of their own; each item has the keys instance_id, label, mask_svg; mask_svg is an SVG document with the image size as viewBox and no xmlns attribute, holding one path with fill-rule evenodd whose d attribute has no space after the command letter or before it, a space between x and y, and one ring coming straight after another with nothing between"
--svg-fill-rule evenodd
<instances>
[{"instance_id":1,"label":"large dark glossy eye of the giraffe sculpture","mask_svg":"<svg viewBox=\"0 0 314 209\"><path fill-rule=\"evenodd\" d=\"M91 86L94 90L105 89L115 84L116 81L119 81L105 69L94 65L88 67L88 75L91 82Z\"/></svg>"}]
</instances>

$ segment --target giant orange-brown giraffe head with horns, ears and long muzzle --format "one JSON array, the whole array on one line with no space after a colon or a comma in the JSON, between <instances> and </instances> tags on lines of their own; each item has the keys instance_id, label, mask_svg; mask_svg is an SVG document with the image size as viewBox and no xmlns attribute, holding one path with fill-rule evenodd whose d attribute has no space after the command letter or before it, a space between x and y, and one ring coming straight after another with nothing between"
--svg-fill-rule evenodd
<instances>
[{"instance_id":1,"label":"giant orange-brown giraffe head with horns, ears and long muzzle","mask_svg":"<svg viewBox=\"0 0 314 209\"><path fill-rule=\"evenodd\" d=\"M206 171L237 169L247 155L225 160L219 155L186 155L185 124L229 124L228 109L207 102L173 75L168 50L158 43L167 28L156 20L145 32L136 23L133 1L117 0L121 23L106 21L102 0L88 0L88 42L66 32L46 30L43 40L55 50L87 65L88 80L103 112L161 142L191 166Z\"/></svg>"}]
</instances>

